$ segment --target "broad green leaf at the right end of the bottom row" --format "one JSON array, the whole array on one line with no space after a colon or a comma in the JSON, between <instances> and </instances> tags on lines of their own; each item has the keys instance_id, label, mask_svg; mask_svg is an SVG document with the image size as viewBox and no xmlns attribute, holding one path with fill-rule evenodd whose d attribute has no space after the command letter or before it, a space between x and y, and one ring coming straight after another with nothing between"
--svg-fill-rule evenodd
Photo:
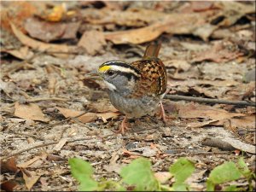
<instances>
[{"instance_id":1,"label":"broad green leaf at the right end of the bottom row","mask_svg":"<svg viewBox=\"0 0 256 192\"><path fill-rule=\"evenodd\" d=\"M216 166L209 175L209 180L214 184L221 184L234 181L241 177L236 164L234 162L225 162L220 166Z\"/></svg>"}]
</instances>

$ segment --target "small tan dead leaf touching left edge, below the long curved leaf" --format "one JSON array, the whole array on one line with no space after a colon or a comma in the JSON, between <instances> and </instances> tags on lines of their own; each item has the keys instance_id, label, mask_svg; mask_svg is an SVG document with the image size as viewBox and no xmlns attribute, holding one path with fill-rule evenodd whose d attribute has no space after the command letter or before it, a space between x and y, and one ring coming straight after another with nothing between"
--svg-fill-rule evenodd
<instances>
[{"instance_id":1,"label":"small tan dead leaf touching left edge, below the long curved leaf","mask_svg":"<svg viewBox=\"0 0 256 192\"><path fill-rule=\"evenodd\" d=\"M1 52L9 53L20 60L27 60L32 58L33 52L28 49L27 46L20 47L20 49L1 49Z\"/></svg>"}]
</instances>

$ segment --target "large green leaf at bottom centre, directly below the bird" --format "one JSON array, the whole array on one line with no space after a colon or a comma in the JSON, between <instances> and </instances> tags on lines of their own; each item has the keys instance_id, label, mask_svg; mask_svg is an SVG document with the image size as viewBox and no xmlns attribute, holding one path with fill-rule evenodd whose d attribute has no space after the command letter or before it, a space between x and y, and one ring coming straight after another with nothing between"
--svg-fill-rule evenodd
<instances>
[{"instance_id":1,"label":"large green leaf at bottom centre, directly below the bird","mask_svg":"<svg viewBox=\"0 0 256 192\"><path fill-rule=\"evenodd\" d=\"M159 190L160 184L154 177L150 169L151 163L144 158L133 160L130 165L122 168L120 175L123 177L123 182L129 185L134 185L137 191Z\"/></svg>"}]
</instances>

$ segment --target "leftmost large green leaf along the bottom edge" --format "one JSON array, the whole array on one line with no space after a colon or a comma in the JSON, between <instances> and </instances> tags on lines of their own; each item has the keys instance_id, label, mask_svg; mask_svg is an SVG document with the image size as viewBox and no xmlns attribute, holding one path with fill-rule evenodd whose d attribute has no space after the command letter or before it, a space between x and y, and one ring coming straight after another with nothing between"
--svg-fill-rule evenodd
<instances>
[{"instance_id":1,"label":"leftmost large green leaf along the bottom edge","mask_svg":"<svg viewBox=\"0 0 256 192\"><path fill-rule=\"evenodd\" d=\"M92 191L98 189L98 183L92 178L93 168L90 163L79 158L68 160L71 166L71 173L80 183L79 190Z\"/></svg>"}]
</instances>

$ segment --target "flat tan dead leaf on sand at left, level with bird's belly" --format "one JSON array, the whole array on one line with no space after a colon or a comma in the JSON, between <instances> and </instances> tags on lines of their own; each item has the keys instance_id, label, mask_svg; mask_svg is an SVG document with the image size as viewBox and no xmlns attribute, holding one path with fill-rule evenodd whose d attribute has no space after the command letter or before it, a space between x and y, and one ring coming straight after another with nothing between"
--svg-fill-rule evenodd
<instances>
[{"instance_id":1,"label":"flat tan dead leaf on sand at left, level with bird's belly","mask_svg":"<svg viewBox=\"0 0 256 192\"><path fill-rule=\"evenodd\" d=\"M44 113L37 104L20 104L15 102L15 116L22 119L38 120L43 122L48 122L49 119L44 117Z\"/></svg>"}]
</instances>

